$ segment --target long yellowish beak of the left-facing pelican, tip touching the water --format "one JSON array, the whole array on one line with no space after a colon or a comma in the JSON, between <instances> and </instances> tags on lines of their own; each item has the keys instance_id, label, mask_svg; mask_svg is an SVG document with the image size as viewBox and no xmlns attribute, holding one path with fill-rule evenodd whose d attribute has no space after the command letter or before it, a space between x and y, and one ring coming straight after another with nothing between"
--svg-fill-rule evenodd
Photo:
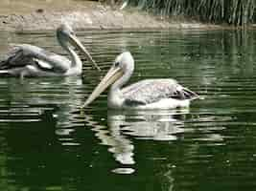
<instances>
[{"instance_id":1,"label":"long yellowish beak of the left-facing pelican, tip touching the water","mask_svg":"<svg viewBox=\"0 0 256 191\"><path fill-rule=\"evenodd\" d=\"M105 89L113 84L117 79L119 79L124 72L120 67L112 67L110 70L105 74L105 77L100 82L100 84L94 89L92 94L86 99L85 103L81 106L81 108L86 107L89 105L94 99L100 96Z\"/></svg>"}]
</instances>

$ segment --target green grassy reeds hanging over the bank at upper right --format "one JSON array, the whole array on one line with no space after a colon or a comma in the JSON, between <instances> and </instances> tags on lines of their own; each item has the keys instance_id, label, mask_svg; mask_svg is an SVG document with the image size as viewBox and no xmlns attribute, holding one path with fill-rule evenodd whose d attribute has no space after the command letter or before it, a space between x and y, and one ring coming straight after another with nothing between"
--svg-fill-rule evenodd
<instances>
[{"instance_id":1,"label":"green grassy reeds hanging over the bank at upper right","mask_svg":"<svg viewBox=\"0 0 256 191\"><path fill-rule=\"evenodd\" d=\"M126 0L141 10L236 26L255 23L255 0Z\"/></svg>"}]
</instances>

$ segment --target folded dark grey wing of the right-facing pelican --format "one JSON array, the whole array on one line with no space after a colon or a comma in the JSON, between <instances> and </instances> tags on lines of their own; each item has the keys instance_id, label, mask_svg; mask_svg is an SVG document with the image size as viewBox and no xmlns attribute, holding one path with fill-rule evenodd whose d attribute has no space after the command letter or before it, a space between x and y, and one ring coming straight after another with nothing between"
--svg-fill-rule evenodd
<instances>
[{"instance_id":1,"label":"folded dark grey wing of the right-facing pelican","mask_svg":"<svg viewBox=\"0 0 256 191\"><path fill-rule=\"evenodd\" d=\"M12 69L35 65L41 70L64 73L70 67L70 60L56 53L47 52L33 45L13 45L7 57L0 61L0 69Z\"/></svg>"}]
</instances>

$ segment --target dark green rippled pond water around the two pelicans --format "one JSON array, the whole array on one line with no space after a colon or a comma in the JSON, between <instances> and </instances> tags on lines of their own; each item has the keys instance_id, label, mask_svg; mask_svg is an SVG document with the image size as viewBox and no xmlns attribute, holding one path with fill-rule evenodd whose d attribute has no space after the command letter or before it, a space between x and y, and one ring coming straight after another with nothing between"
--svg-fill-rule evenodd
<instances>
[{"instance_id":1,"label":"dark green rippled pond water around the two pelicans","mask_svg":"<svg viewBox=\"0 0 256 191\"><path fill-rule=\"evenodd\" d=\"M1 32L65 54L54 32ZM0 190L254 190L256 32L79 32L103 69L82 77L1 78ZM131 82L174 77L204 96L189 110L110 111L106 93L80 106L118 53Z\"/></svg>"}]
</instances>

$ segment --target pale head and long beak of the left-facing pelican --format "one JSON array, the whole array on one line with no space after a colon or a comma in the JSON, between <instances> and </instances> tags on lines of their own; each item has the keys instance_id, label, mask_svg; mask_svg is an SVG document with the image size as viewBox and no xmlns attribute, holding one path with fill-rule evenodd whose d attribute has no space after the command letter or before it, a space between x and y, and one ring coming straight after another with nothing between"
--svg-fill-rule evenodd
<instances>
[{"instance_id":1,"label":"pale head and long beak of the left-facing pelican","mask_svg":"<svg viewBox=\"0 0 256 191\"><path fill-rule=\"evenodd\" d=\"M95 98L100 96L105 89L112 85L120 88L124 85L134 70L134 60L129 52L119 54L112 67L109 69L100 84L94 89L92 94L87 98L82 108L89 105Z\"/></svg>"}]
</instances>

